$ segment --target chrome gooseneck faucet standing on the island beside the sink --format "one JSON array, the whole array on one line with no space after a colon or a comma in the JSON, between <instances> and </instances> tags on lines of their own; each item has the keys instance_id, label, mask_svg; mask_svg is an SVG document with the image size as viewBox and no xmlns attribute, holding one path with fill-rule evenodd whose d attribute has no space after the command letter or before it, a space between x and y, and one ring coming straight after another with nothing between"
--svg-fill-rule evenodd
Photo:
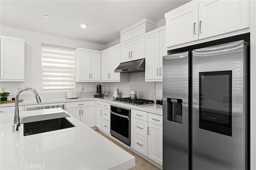
<instances>
[{"instance_id":1,"label":"chrome gooseneck faucet standing on the island beside the sink","mask_svg":"<svg viewBox=\"0 0 256 170\"><path fill-rule=\"evenodd\" d=\"M26 91L26 90L32 91L36 95L36 102L41 103L41 99L38 96L38 93L34 89L31 89L31 88L20 89L15 95L14 124L12 125L12 132L19 131L19 126L20 126L19 95L22 91Z\"/></svg>"}]
</instances>

